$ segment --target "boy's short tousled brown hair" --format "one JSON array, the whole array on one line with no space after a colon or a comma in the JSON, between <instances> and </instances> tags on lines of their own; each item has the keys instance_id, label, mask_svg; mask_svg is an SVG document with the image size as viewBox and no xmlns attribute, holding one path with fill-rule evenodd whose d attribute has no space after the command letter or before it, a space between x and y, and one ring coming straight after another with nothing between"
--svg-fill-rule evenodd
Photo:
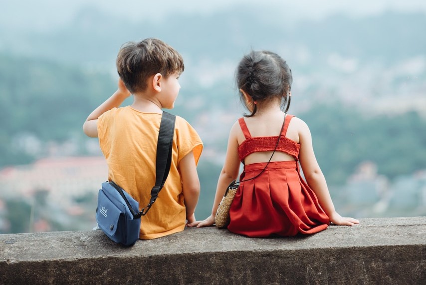
<instances>
[{"instance_id":1,"label":"boy's short tousled brown hair","mask_svg":"<svg viewBox=\"0 0 426 285\"><path fill-rule=\"evenodd\" d=\"M124 43L116 65L118 75L132 94L144 91L148 78L154 74L161 73L167 78L174 73L181 74L185 68L179 52L156 38Z\"/></svg>"}]
</instances>

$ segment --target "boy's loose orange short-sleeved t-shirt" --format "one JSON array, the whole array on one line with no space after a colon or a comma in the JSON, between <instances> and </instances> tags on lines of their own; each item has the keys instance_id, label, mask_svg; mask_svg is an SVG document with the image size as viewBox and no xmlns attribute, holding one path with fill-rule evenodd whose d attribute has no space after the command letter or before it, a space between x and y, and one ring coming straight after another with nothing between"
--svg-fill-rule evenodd
<instances>
[{"instance_id":1,"label":"boy's loose orange short-sleeved t-shirt","mask_svg":"<svg viewBox=\"0 0 426 285\"><path fill-rule=\"evenodd\" d=\"M161 114L143 113L130 106L113 108L98 118L99 145L114 181L146 207L155 184L157 139ZM186 211L179 162L191 151L198 163L203 142L194 128L176 116L169 176L156 202L141 217L139 238L160 238L185 229Z\"/></svg>"}]
</instances>

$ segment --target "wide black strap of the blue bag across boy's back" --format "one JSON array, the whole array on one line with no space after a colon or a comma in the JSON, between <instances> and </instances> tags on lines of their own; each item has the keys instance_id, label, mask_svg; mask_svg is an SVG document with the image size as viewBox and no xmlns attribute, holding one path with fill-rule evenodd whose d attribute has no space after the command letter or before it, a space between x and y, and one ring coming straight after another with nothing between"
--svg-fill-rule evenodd
<instances>
[{"instance_id":1,"label":"wide black strap of the blue bag across boy's back","mask_svg":"<svg viewBox=\"0 0 426 285\"><path fill-rule=\"evenodd\" d=\"M155 171L155 185L151 189L151 199L149 204L136 214L136 218L145 216L152 204L157 200L160 190L163 188L169 176L170 165L172 163L173 135L175 133L176 116L163 111L158 133L157 158Z\"/></svg>"}]
</instances>

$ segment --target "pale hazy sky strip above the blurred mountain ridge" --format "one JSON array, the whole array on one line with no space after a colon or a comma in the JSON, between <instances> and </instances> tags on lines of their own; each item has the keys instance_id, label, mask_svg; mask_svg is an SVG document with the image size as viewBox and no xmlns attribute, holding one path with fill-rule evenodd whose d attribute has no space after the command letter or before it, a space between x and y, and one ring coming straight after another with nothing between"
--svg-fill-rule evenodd
<instances>
[{"instance_id":1,"label":"pale hazy sky strip above the blurred mountain ridge","mask_svg":"<svg viewBox=\"0 0 426 285\"><path fill-rule=\"evenodd\" d=\"M425 0L0 0L0 25L52 29L67 23L79 9L88 5L131 20L161 19L175 12L208 14L231 7L259 5L270 6L271 11L291 10L293 20L321 18L337 12L351 16L375 14L384 10L426 13Z\"/></svg>"}]
</instances>

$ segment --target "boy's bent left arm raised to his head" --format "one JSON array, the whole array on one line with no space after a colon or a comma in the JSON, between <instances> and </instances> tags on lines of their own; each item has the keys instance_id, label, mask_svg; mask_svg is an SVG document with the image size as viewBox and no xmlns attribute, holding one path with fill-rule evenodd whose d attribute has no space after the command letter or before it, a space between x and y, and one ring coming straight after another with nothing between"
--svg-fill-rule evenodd
<instances>
[{"instance_id":1,"label":"boy's bent left arm raised to his head","mask_svg":"<svg viewBox=\"0 0 426 285\"><path fill-rule=\"evenodd\" d=\"M124 86L123 81L118 79L118 89L112 94L105 102L103 102L99 107L97 107L90 115L87 117L86 121L83 124L83 131L89 137L98 136L97 121L100 115L105 113L112 108L117 108L123 103L123 101L129 97L131 94Z\"/></svg>"}]
</instances>

